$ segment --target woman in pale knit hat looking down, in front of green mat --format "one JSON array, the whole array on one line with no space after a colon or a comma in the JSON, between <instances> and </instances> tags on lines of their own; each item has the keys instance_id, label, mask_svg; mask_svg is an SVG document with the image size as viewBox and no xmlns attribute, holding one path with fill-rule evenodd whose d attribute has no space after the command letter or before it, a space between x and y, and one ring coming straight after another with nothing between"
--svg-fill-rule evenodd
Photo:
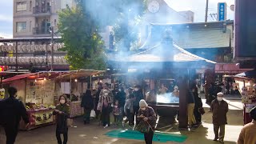
<instances>
[{"instance_id":1,"label":"woman in pale knit hat looking down, in front of green mat","mask_svg":"<svg viewBox=\"0 0 256 144\"><path fill-rule=\"evenodd\" d=\"M144 133L144 139L146 144L152 144L153 136L154 136L154 127L156 125L156 114L154 113L154 109L150 106L147 106L147 103L144 99L139 102L140 109L138 110L138 121L146 122L150 125L150 130L148 133Z\"/></svg>"}]
</instances>

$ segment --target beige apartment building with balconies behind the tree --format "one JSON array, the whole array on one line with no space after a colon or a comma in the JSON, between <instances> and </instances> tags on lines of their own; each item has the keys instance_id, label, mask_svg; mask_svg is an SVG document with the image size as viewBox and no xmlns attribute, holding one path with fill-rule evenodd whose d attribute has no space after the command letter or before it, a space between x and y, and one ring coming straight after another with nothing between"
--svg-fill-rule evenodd
<instances>
[{"instance_id":1,"label":"beige apartment building with balconies behind the tree","mask_svg":"<svg viewBox=\"0 0 256 144\"><path fill-rule=\"evenodd\" d=\"M14 38L50 37L57 30L58 10L74 6L74 0L14 0Z\"/></svg>"}]
</instances>

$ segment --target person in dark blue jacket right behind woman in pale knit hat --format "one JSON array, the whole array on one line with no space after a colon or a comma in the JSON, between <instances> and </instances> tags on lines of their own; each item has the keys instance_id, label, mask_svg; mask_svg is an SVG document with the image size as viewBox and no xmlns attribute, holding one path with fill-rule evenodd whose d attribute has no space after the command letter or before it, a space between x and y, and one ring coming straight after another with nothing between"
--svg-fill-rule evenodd
<instances>
[{"instance_id":1,"label":"person in dark blue jacket right behind woman in pale knit hat","mask_svg":"<svg viewBox=\"0 0 256 144\"><path fill-rule=\"evenodd\" d=\"M137 118L137 115L138 115L138 110L139 110L139 102L140 100L144 99L144 95L142 93L142 89L141 89L141 86L135 86L134 87L134 103L133 103L133 106L134 106L134 114L136 116L136 125L138 125L138 118Z\"/></svg>"}]
</instances>

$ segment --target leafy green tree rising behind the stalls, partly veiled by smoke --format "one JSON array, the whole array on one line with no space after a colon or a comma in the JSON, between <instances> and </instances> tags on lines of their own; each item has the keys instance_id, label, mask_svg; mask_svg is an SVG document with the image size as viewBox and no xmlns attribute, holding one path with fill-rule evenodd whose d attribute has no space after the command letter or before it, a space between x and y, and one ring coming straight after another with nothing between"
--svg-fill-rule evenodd
<instances>
[{"instance_id":1,"label":"leafy green tree rising behind the stalls, partly veiled by smoke","mask_svg":"<svg viewBox=\"0 0 256 144\"><path fill-rule=\"evenodd\" d=\"M96 30L93 18L85 14L82 6L66 7L60 11L58 30L67 51L66 59L72 70L105 70L104 43Z\"/></svg>"}]
</instances>

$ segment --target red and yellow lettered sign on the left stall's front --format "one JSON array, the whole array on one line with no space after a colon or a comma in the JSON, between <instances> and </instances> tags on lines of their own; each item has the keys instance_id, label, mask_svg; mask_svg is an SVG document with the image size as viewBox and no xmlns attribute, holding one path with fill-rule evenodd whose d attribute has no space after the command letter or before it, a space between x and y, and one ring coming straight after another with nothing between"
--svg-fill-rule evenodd
<instances>
[{"instance_id":1,"label":"red and yellow lettered sign on the left stall's front","mask_svg":"<svg viewBox=\"0 0 256 144\"><path fill-rule=\"evenodd\" d=\"M42 125L49 122L54 122L53 110L38 111L34 114L35 126Z\"/></svg>"}]
</instances>

